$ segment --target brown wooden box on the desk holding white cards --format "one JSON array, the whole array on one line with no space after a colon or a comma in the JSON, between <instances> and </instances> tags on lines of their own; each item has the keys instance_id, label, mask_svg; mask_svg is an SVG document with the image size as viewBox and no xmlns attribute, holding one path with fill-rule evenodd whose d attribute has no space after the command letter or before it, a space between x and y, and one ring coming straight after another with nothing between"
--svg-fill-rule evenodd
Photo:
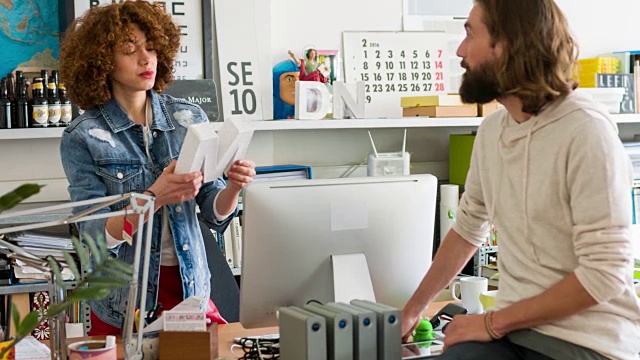
<instances>
[{"instance_id":1,"label":"brown wooden box on the desk holding white cards","mask_svg":"<svg viewBox=\"0 0 640 360\"><path fill-rule=\"evenodd\" d=\"M218 358L218 324L207 331L160 331L160 360L214 360Z\"/></svg>"}]
</instances>

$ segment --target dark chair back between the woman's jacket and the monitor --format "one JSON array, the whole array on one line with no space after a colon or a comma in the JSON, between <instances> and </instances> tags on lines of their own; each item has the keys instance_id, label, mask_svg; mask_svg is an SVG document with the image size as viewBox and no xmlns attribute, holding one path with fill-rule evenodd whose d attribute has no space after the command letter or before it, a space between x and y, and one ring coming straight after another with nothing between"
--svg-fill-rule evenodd
<instances>
[{"instance_id":1,"label":"dark chair back between the woman's jacket and the monitor","mask_svg":"<svg viewBox=\"0 0 640 360\"><path fill-rule=\"evenodd\" d=\"M211 300L228 322L240 321L240 288L211 230L200 221L200 230L211 272Z\"/></svg>"}]
</instances>

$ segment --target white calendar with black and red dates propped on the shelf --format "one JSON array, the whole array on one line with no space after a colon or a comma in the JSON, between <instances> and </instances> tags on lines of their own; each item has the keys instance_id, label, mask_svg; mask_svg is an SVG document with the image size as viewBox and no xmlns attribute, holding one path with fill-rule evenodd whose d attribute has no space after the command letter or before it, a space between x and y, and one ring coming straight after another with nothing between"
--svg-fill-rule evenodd
<instances>
[{"instance_id":1,"label":"white calendar with black and red dates propped on the shelf","mask_svg":"<svg viewBox=\"0 0 640 360\"><path fill-rule=\"evenodd\" d=\"M457 45L441 32L344 32L345 79L365 83L367 118L400 118L401 97L452 92Z\"/></svg>"}]
</instances>

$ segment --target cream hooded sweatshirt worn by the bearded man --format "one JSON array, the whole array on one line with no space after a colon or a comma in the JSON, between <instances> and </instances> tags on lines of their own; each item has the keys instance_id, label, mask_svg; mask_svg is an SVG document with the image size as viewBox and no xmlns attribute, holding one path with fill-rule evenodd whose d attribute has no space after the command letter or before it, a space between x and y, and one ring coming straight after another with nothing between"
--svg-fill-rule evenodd
<instances>
[{"instance_id":1,"label":"cream hooded sweatshirt worn by the bearded man","mask_svg":"<svg viewBox=\"0 0 640 360\"><path fill-rule=\"evenodd\" d=\"M481 246L495 224L497 308L575 272L598 305L535 330L611 358L637 359L631 180L616 124L584 95L573 92L522 124L505 110L488 116L453 229Z\"/></svg>"}]
</instances>

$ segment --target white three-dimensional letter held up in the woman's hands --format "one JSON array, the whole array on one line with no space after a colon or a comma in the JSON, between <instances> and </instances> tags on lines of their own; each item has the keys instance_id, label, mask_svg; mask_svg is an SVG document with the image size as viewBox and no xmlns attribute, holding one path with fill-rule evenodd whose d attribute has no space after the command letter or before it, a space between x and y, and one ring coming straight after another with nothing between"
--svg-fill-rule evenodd
<instances>
[{"instance_id":1,"label":"white three-dimensional letter held up in the woman's hands","mask_svg":"<svg viewBox=\"0 0 640 360\"><path fill-rule=\"evenodd\" d=\"M176 174L202 170L204 182L214 181L236 160L244 158L253 137L246 120L225 121L216 134L212 123L193 124L180 150Z\"/></svg>"}]
</instances>

